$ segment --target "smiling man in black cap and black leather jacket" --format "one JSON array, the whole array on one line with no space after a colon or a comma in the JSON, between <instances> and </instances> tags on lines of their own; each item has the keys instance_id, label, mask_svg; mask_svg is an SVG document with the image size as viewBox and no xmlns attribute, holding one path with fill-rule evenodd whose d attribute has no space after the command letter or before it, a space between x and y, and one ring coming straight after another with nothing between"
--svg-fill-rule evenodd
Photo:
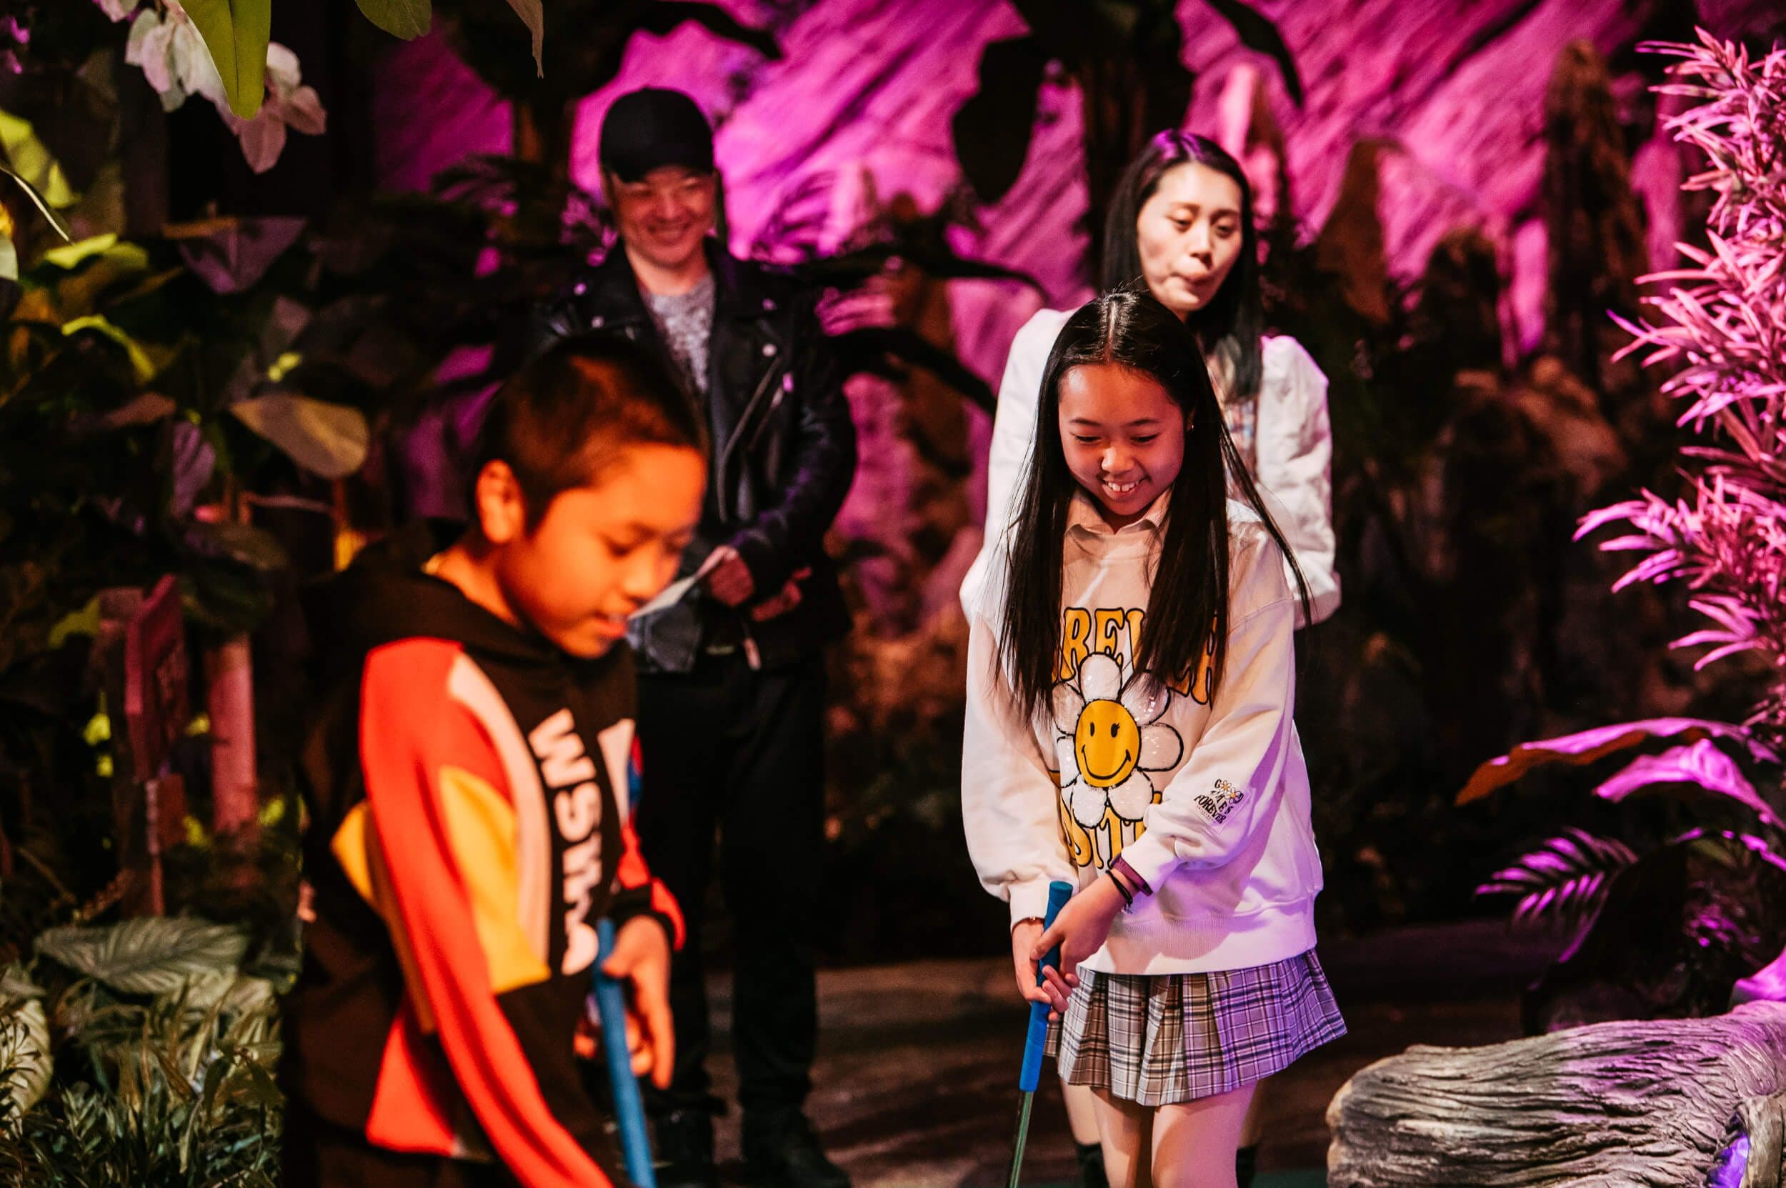
<instances>
[{"instance_id":1,"label":"smiling man in black cap and black leather jacket","mask_svg":"<svg viewBox=\"0 0 1786 1188\"><path fill-rule=\"evenodd\" d=\"M848 627L823 538L855 470L855 429L811 295L709 234L718 177L693 100L622 96L600 159L620 243L543 311L539 338L611 329L663 350L711 432L707 500L679 573L695 581L629 632L641 670L639 841L689 924L672 968L675 1081L648 1102L666 1161L657 1183L718 1183L700 959L718 831L747 1174L775 1188L847 1188L804 1100L818 1034L822 648Z\"/></svg>"}]
</instances>

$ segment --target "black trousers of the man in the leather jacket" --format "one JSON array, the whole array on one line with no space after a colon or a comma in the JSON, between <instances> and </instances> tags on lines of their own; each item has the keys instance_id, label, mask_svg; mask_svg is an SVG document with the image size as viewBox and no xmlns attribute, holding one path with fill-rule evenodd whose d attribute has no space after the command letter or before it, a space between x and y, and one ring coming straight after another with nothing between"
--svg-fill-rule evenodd
<instances>
[{"instance_id":1,"label":"black trousers of the man in the leather jacket","mask_svg":"<svg viewBox=\"0 0 1786 1188\"><path fill-rule=\"evenodd\" d=\"M675 1081L666 1093L650 1093L654 1113L711 1102L700 938L714 832L736 938L739 1106L747 1115L800 1108L813 1088L823 715L818 657L755 672L741 654L702 656L691 673L639 677L639 847L688 922L688 943L670 966Z\"/></svg>"}]
</instances>

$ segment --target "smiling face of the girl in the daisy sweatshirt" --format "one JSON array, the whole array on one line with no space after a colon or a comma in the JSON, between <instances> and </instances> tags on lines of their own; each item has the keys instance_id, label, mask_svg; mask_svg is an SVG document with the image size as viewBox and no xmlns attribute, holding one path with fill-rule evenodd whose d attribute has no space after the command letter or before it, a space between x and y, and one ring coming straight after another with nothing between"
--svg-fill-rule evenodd
<instances>
[{"instance_id":1,"label":"smiling face of the girl in the daisy sweatshirt","mask_svg":"<svg viewBox=\"0 0 1786 1188\"><path fill-rule=\"evenodd\" d=\"M1061 452L1113 529L1141 518L1184 466L1186 418L1152 375L1088 363L1061 377Z\"/></svg>"}]
</instances>

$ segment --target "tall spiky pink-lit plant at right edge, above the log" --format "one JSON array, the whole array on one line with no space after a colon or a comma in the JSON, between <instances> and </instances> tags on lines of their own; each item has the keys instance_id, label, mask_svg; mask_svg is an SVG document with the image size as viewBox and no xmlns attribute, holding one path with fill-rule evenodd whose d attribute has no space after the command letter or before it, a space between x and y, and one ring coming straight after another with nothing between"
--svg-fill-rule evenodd
<instances>
[{"instance_id":1,"label":"tall spiky pink-lit plant at right edge, above the log","mask_svg":"<svg viewBox=\"0 0 1786 1188\"><path fill-rule=\"evenodd\" d=\"M1665 95L1700 100L1670 120L1711 168L1688 189L1716 193L1711 250L1682 245L1693 268L1647 277L1654 318L1625 329L1645 364L1677 370L1663 391L1686 402L1681 450L1688 493L1640 498L1586 516L1577 538L1622 523L1607 552L1643 554L1618 586L1684 581L1709 623L1675 641L1706 647L1697 666L1752 652L1768 690L1750 725L1786 734L1786 48L1747 50L1700 34L1698 45L1650 46L1681 57Z\"/></svg>"}]
</instances>

